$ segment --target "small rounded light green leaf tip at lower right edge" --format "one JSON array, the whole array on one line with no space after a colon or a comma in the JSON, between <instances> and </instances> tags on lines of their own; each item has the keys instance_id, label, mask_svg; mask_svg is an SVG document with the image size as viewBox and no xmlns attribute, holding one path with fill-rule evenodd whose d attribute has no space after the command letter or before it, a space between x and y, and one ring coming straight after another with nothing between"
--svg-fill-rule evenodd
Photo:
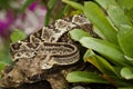
<instances>
[{"instance_id":1,"label":"small rounded light green leaf tip at lower right edge","mask_svg":"<svg viewBox=\"0 0 133 89\"><path fill-rule=\"evenodd\" d=\"M121 76L125 79L133 79L133 70L131 70L130 68L122 68L121 70Z\"/></svg>"}]
</instances>

